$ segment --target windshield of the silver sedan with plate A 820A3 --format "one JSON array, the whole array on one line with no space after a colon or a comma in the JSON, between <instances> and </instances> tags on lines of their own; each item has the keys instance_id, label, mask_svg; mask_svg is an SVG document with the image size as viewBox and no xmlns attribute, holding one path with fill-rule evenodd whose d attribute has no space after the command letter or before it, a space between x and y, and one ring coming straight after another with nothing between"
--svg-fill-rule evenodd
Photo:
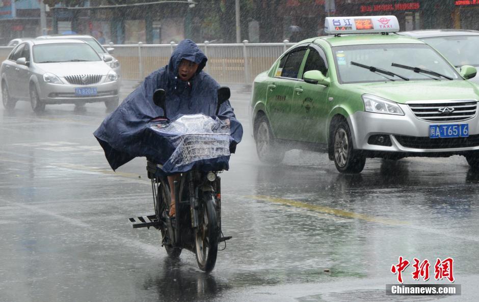
<instances>
[{"instance_id":1,"label":"windshield of the silver sedan with plate A 820A3","mask_svg":"<svg viewBox=\"0 0 479 302\"><path fill-rule=\"evenodd\" d=\"M101 61L98 54L88 44L51 43L33 46L35 63L92 62Z\"/></svg>"}]
</instances>

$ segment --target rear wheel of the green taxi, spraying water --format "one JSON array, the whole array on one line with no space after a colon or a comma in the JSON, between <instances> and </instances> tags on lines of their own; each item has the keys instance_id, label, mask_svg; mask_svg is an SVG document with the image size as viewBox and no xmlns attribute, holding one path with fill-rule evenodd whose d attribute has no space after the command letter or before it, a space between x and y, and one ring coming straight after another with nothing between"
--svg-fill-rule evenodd
<instances>
[{"instance_id":1,"label":"rear wheel of the green taxi, spraying water","mask_svg":"<svg viewBox=\"0 0 479 302\"><path fill-rule=\"evenodd\" d=\"M277 146L268 119L260 116L254 125L254 141L259 160L269 164L282 162L285 151Z\"/></svg>"}]
</instances>

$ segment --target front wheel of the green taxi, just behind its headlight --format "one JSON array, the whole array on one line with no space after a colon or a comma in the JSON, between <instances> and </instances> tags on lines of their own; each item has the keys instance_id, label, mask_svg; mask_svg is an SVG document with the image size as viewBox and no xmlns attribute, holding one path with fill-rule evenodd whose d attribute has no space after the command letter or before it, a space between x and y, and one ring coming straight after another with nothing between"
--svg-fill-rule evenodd
<instances>
[{"instance_id":1,"label":"front wheel of the green taxi, just behind its headlight","mask_svg":"<svg viewBox=\"0 0 479 302\"><path fill-rule=\"evenodd\" d=\"M360 173L366 164L366 157L353 148L348 123L339 122L333 132L334 164L341 173Z\"/></svg>"}]
</instances>

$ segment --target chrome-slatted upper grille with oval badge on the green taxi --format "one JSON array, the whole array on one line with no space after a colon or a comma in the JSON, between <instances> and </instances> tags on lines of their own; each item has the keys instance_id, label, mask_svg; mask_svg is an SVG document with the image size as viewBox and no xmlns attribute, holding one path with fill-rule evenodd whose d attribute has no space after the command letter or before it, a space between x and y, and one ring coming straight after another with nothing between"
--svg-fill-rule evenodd
<instances>
[{"instance_id":1,"label":"chrome-slatted upper grille with oval badge on the green taxi","mask_svg":"<svg viewBox=\"0 0 479 302\"><path fill-rule=\"evenodd\" d=\"M476 100L408 102L417 118L426 122L460 122L472 118L477 112Z\"/></svg>"}]
</instances>

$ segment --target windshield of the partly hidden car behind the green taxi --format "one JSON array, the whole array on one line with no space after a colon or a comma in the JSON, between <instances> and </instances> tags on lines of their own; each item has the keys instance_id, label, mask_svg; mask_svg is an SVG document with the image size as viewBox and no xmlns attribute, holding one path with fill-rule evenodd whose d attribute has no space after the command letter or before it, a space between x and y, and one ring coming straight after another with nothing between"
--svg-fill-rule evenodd
<instances>
[{"instance_id":1,"label":"windshield of the partly hidden car behind the green taxi","mask_svg":"<svg viewBox=\"0 0 479 302\"><path fill-rule=\"evenodd\" d=\"M479 36L435 37L423 40L439 50L456 67L479 66Z\"/></svg>"}]
</instances>

